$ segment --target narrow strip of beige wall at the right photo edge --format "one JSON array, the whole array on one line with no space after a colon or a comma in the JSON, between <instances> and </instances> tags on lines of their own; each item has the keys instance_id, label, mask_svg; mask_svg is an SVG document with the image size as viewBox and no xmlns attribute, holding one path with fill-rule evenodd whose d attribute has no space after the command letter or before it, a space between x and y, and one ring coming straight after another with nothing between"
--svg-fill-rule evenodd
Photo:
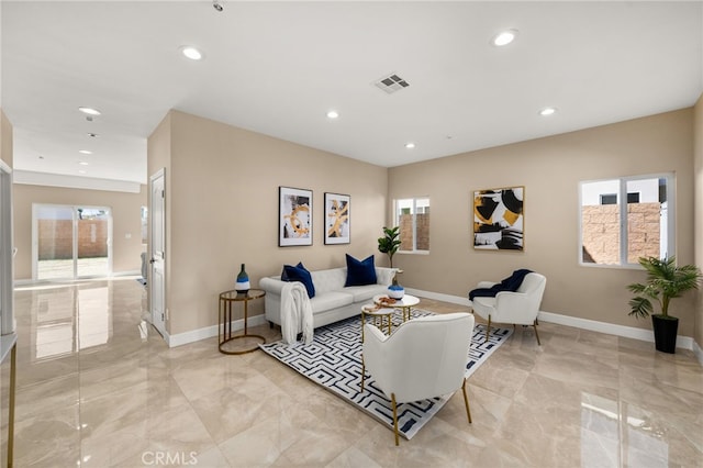
<instances>
[{"instance_id":1,"label":"narrow strip of beige wall at the right photo edge","mask_svg":"<svg viewBox=\"0 0 703 468\"><path fill-rule=\"evenodd\" d=\"M695 208L695 265L703 268L703 94L694 108L693 118L694 154L694 208ZM695 301L693 339L703 348L703 290L699 290Z\"/></svg>"}]
</instances>

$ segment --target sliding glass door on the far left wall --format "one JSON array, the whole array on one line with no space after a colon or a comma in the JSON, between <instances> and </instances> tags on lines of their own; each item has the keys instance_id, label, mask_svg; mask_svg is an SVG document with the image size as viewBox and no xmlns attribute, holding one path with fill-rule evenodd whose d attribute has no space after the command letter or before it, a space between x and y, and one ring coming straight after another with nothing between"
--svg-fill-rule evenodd
<instances>
[{"instance_id":1,"label":"sliding glass door on the far left wall","mask_svg":"<svg viewBox=\"0 0 703 468\"><path fill-rule=\"evenodd\" d=\"M35 204L33 278L76 279L112 272L112 215L105 207Z\"/></svg>"}]
</instances>

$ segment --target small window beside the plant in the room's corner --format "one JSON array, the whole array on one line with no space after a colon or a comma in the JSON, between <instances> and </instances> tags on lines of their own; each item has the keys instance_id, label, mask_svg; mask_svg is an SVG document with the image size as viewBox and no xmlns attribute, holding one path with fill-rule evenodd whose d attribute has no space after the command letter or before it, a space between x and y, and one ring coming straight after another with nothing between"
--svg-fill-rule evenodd
<instances>
[{"instance_id":1,"label":"small window beside the plant in the room's corner","mask_svg":"<svg viewBox=\"0 0 703 468\"><path fill-rule=\"evenodd\" d=\"M429 198L395 200L394 225L401 252L429 252Z\"/></svg>"}]
</instances>

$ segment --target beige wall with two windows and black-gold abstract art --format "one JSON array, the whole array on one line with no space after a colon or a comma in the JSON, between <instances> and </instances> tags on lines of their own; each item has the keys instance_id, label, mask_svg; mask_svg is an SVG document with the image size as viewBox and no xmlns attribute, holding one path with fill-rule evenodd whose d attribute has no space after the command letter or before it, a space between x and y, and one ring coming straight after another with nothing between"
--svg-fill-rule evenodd
<instances>
[{"instance_id":1,"label":"beige wall with two windows and black-gold abstract art","mask_svg":"<svg viewBox=\"0 0 703 468\"><path fill-rule=\"evenodd\" d=\"M500 280L516 268L547 277L542 310L650 328L627 315L626 285L644 280L631 269L582 267L579 253L581 180L665 171L677 174L677 256L693 261L693 110L412 164L389 170L390 200L428 196L428 255L398 254L401 282L466 297L479 280ZM525 187L525 250L472 247L475 190ZM673 303L679 333L693 334L693 294Z\"/></svg>"}]
</instances>

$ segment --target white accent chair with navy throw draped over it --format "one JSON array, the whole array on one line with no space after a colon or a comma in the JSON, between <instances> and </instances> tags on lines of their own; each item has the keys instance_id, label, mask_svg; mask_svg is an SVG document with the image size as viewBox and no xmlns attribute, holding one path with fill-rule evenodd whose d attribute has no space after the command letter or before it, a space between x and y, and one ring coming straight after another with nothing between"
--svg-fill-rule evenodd
<instances>
[{"instance_id":1,"label":"white accent chair with navy throw draped over it","mask_svg":"<svg viewBox=\"0 0 703 468\"><path fill-rule=\"evenodd\" d=\"M491 288L495 282L480 281L478 288ZM500 291L494 298L473 298L471 301L473 312L488 321L486 341L488 341L492 323L512 323L513 325L532 325L535 328L537 344L542 346L537 333L537 314L546 285L547 278L533 271L525 276L515 292Z\"/></svg>"}]
</instances>

